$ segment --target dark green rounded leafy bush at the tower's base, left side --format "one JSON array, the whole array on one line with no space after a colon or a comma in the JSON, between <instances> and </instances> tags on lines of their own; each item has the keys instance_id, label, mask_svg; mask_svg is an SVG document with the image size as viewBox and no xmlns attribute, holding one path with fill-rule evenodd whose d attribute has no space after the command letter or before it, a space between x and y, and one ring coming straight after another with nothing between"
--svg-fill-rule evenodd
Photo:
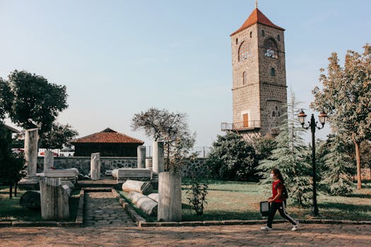
<instances>
[{"instance_id":1,"label":"dark green rounded leafy bush at the tower's base, left side","mask_svg":"<svg viewBox=\"0 0 371 247\"><path fill-rule=\"evenodd\" d=\"M234 132L218 135L206 165L216 179L257 181L254 147Z\"/></svg>"}]
</instances>

